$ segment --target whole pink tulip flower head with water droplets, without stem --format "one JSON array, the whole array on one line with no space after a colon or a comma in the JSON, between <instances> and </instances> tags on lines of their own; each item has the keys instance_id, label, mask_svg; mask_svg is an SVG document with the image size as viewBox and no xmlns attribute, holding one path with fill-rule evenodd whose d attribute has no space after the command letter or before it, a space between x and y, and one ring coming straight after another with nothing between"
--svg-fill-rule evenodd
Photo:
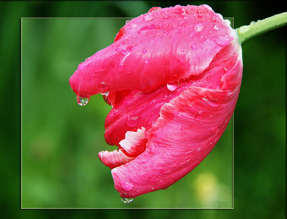
<instances>
[{"instance_id":1,"label":"whole pink tulip flower head with water droplets, without stem","mask_svg":"<svg viewBox=\"0 0 287 219\"><path fill-rule=\"evenodd\" d=\"M166 189L212 150L235 108L242 78L235 31L207 5L152 8L70 78L78 98L112 105L99 158L122 198ZM108 92L108 93L106 93Z\"/></svg>"}]
</instances>

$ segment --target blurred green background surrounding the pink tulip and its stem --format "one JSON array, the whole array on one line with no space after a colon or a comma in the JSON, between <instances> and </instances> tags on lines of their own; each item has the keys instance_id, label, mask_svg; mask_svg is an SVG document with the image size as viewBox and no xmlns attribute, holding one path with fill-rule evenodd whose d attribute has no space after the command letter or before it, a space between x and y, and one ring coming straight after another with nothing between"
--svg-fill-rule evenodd
<instances>
[{"instance_id":1,"label":"blurred green background surrounding the pink tulip and its stem","mask_svg":"<svg viewBox=\"0 0 287 219\"><path fill-rule=\"evenodd\" d=\"M137 210L141 212L137 217L286 217L286 28L242 46L233 172L231 122L196 169L168 189L136 197L129 204L120 201L110 169L97 158L98 152L115 149L103 137L111 107L101 95L79 106L69 77L85 58L110 45L128 18L154 6L176 4L208 4L223 17L234 17L235 28L286 11L262 1L0 2L3 214L8 218L53 218L54 214L126 218L133 217L134 211L97 209L69 215L65 210L15 209L234 207ZM68 19L72 17L82 19Z\"/></svg>"}]
</instances>

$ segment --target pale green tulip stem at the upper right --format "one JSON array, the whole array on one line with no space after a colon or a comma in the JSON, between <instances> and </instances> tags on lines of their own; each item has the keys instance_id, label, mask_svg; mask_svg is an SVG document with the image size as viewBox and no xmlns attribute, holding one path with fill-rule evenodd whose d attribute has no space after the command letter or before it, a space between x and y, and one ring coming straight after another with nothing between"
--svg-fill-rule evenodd
<instances>
[{"instance_id":1,"label":"pale green tulip stem at the upper right","mask_svg":"<svg viewBox=\"0 0 287 219\"><path fill-rule=\"evenodd\" d=\"M242 45L248 40L258 36L262 33L266 33L270 30L274 30L278 27L283 27L287 22L287 12L274 15L257 22L252 21L250 25L236 28L235 32L238 36L238 41Z\"/></svg>"}]
</instances>

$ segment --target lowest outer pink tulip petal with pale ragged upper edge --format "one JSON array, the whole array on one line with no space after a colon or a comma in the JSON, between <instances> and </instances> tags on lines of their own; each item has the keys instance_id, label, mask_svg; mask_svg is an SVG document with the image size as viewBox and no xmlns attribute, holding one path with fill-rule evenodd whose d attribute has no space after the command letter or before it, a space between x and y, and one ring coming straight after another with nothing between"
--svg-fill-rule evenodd
<instances>
[{"instance_id":1,"label":"lowest outer pink tulip petal with pale ragged upper edge","mask_svg":"<svg viewBox=\"0 0 287 219\"><path fill-rule=\"evenodd\" d=\"M235 108L233 91L190 87L163 105L149 129L147 149L134 160L112 169L115 188L124 198L166 188L193 170L212 150ZM221 104L210 106L218 97ZM136 171L132 171L136 169ZM129 183L129 188L123 186Z\"/></svg>"}]
</instances>

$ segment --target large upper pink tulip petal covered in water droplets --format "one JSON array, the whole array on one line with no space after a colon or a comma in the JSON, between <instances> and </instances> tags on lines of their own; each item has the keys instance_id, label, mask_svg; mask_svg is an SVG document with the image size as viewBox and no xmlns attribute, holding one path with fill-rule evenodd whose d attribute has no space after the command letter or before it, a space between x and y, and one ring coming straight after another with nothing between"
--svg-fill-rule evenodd
<instances>
[{"instance_id":1,"label":"large upper pink tulip petal covered in water droplets","mask_svg":"<svg viewBox=\"0 0 287 219\"><path fill-rule=\"evenodd\" d=\"M81 98L121 90L150 92L201 74L235 38L222 16L206 6L154 10L125 24L113 44L80 63L70 86Z\"/></svg>"}]
</instances>

